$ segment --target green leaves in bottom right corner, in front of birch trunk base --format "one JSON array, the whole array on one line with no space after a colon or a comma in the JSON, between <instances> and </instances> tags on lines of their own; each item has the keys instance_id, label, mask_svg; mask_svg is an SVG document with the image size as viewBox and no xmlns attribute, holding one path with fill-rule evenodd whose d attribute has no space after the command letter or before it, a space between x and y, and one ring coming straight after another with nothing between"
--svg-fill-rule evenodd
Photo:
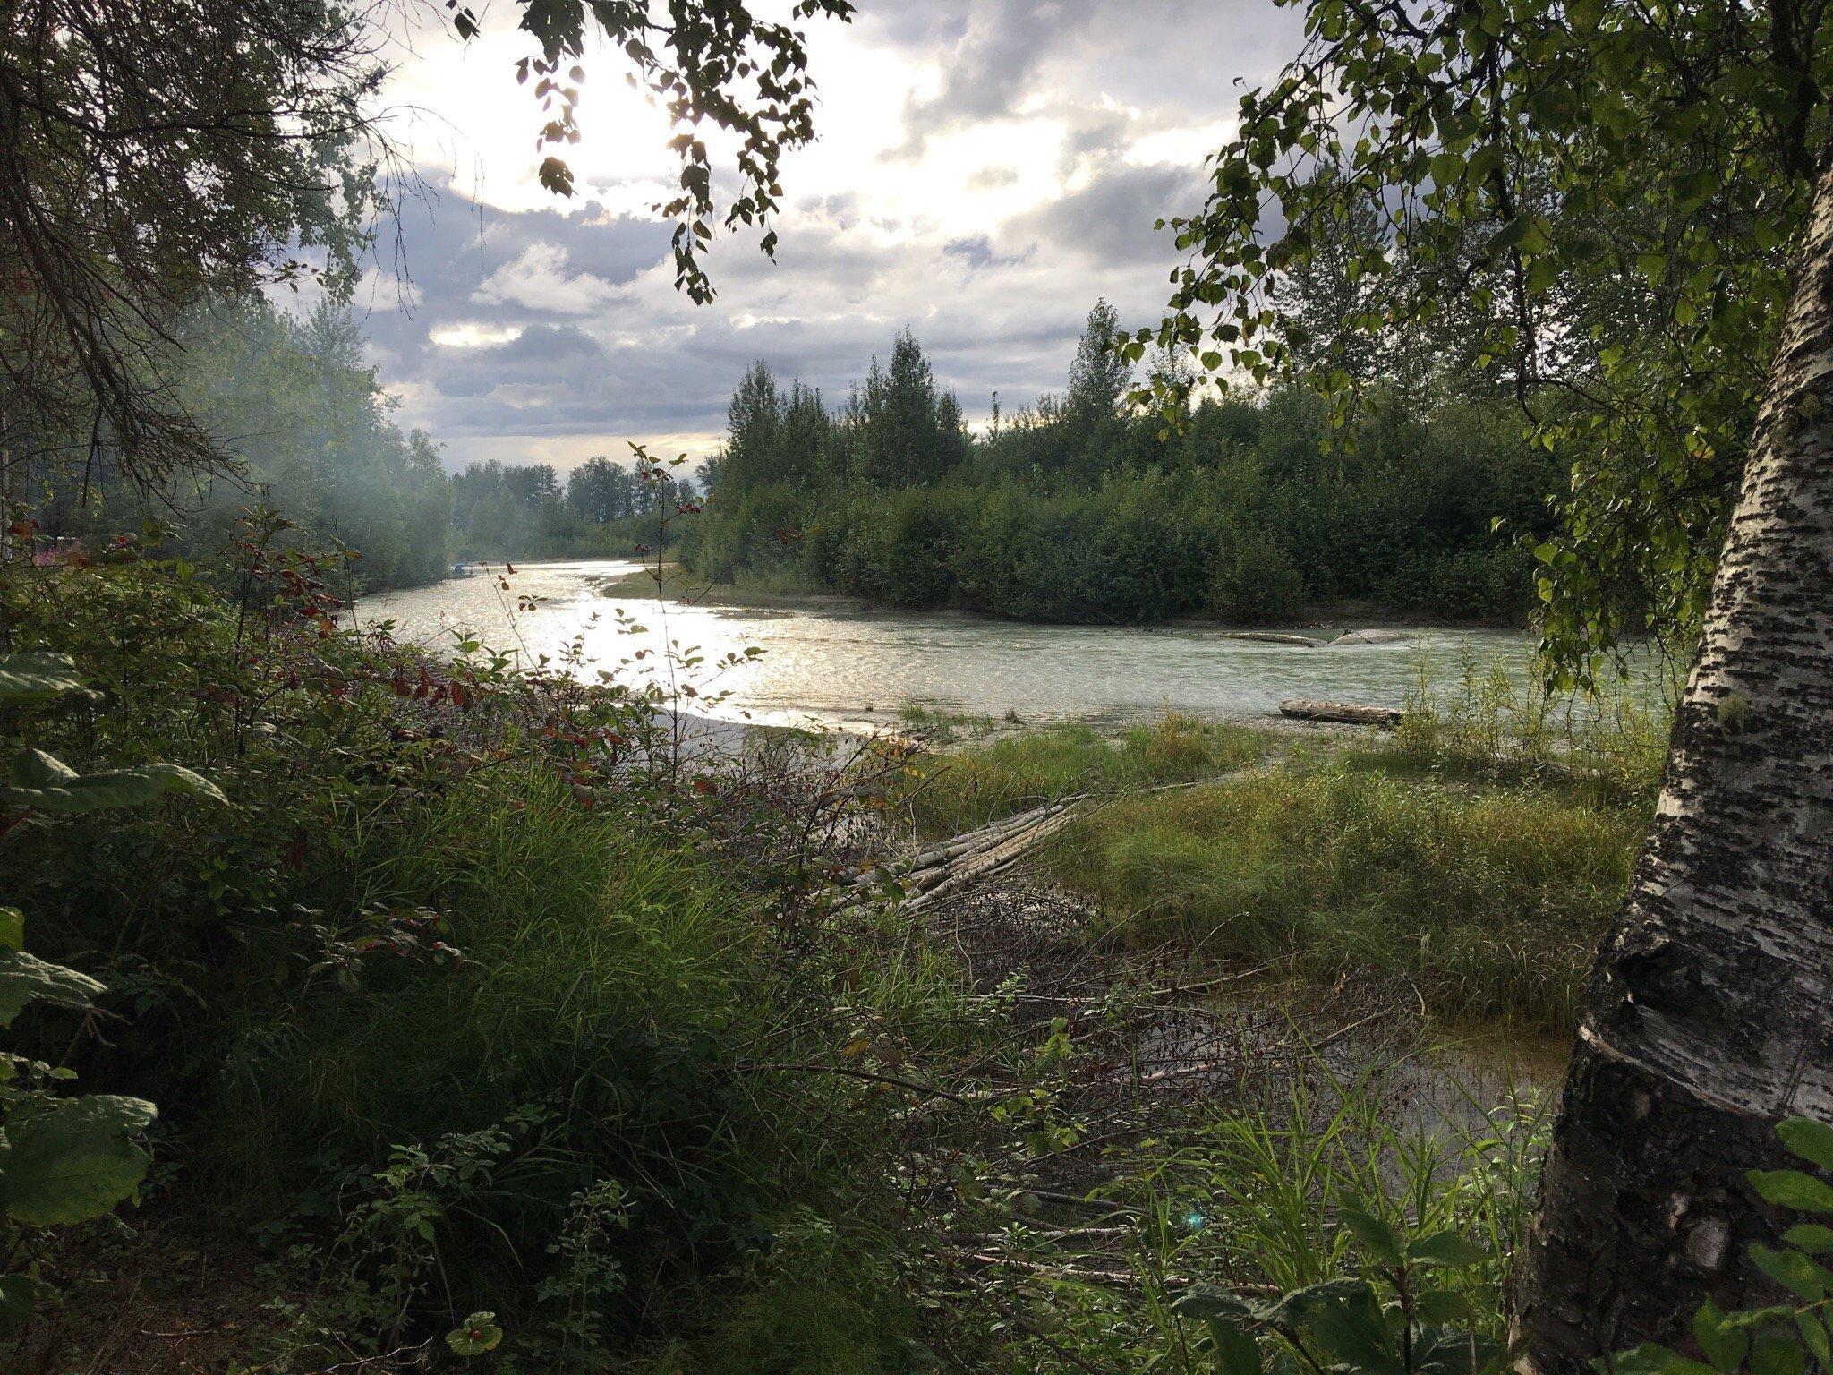
<instances>
[{"instance_id":1,"label":"green leaves in bottom right corner, in front of birch trunk base","mask_svg":"<svg viewBox=\"0 0 1833 1375\"><path fill-rule=\"evenodd\" d=\"M1776 1137L1820 1173L1751 1170L1751 1188L1784 1212L1833 1214L1833 1186L1822 1177L1833 1173L1833 1128L1791 1116L1776 1126ZM1815 1260L1828 1252L1833 1252L1833 1228L1826 1223L1795 1223L1782 1234L1780 1248L1751 1243L1751 1265L1774 1282L1778 1294L1791 1298L1736 1313L1723 1313L1708 1298L1694 1314L1692 1329L1705 1360L1646 1342L1593 1366L1604 1375L1800 1375L1806 1370L1833 1370L1833 1270Z\"/></svg>"}]
</instances>

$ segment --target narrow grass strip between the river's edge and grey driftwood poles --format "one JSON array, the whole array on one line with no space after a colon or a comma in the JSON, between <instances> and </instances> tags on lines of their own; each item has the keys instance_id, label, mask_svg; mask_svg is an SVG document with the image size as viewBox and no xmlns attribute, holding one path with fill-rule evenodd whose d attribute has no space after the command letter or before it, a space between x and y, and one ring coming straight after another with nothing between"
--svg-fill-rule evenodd
<instances>
[{"instance_id":1,"label":"narrow grass strip between the river's edge and grey driftwood poles","mask_svg":"<svg viewBox=\"0 0 1833 1375\"><path fill-rule=\"evenodd\" d=\"M918 766L909 814L922 836L949 836L1076 792L1122 792L1215 777L1259 759L1270 737L1248 726L1164 715L1118 735L1047 726Z\"/></svg>"}]
</instances>

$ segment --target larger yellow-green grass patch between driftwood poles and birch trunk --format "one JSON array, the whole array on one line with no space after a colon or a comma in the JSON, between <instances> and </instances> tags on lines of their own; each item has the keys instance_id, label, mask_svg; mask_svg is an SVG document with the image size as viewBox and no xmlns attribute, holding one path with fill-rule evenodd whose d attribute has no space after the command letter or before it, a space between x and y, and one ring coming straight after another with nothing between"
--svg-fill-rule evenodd
<instances>
[{"instance_id":1,"label":"larger yellow-green grass patch between driftwood poles and birch trunk","mask_svg":"<svg viewBox=\"0 0 1833 1375\"><path fill-rule=\"evenodd\" d=\"M1444 1019L1565 1030L1641 810L1287 763L1122 799L1048 864L1140 940L1329 986L1411 984Z\"/></svg>"}]
</instances>

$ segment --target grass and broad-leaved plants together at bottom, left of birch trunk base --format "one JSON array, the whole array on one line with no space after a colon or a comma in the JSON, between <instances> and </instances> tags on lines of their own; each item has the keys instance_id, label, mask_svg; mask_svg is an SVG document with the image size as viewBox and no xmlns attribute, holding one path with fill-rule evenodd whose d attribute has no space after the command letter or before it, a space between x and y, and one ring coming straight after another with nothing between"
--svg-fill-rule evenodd
<instances>
[{"instance_id":1,"label":"grass and broad-leaved plants together at bottom, left of birch trunk base","mask_svg":"<svg viewBox=\"0 0 1833 1375\"><path fill-rule=\"evenodd\" d=\"M1314 1054L1144 1168L1120 1153L1089 1201L1129 1219L1131 1283L1056 1278L1048 1250L1021 1250L1041 1276L1014 1280L1032 1300L1004 1320L1025 1368L1487 1368L1549 1118L1510 1094L1400 1126L1395 1091L1378 1071L1340 1080Z\"/></svg>"}]
</instances>

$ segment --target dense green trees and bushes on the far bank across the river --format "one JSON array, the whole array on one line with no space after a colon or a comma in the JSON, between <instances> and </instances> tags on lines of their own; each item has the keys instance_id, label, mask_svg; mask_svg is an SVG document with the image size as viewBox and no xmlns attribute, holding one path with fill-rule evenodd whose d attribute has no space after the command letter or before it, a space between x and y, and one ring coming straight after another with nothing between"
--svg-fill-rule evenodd
<instances>
[{"instance_id":1,"label":"dense green trees and bushes on the far bank across the river","mask_svg":"<svg viewBox=\"0 0 1833 1375\"><path fill-rule=\"evenodd\" d=\"M1096 304L1067 390L1015 414L995 398L981 434L909 332L838 409L753 365L682 557L719 581L1025 620L1527 612L1558 462L1505 398L1395 381L1333 427L1287 387L1168 425L1129 407L1120 337Z\"/></svg>"}]
</instances>

